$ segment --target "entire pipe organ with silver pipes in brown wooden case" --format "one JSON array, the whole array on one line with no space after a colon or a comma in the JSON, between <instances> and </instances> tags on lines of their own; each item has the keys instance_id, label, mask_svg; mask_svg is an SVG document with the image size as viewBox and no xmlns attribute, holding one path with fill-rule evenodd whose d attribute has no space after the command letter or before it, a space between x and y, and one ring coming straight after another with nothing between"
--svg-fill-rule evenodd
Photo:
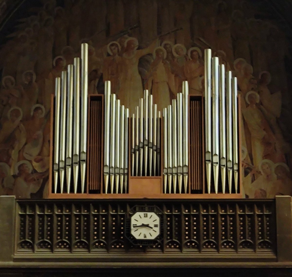
<instances>
[{"instance_id":1,"label":"entire pipe organ with silver pipes in brown wooden case","mask_svg":"<svg viewBox=\"0 0 292 277\"><path fill-rule=\"evenodd\" d=\"M240 198L237 79L206 49L205 93L183 90L162 111L148 90L132 114L111 93L88 95L88 45L55 79L50 198Z\"/></svg>"}]
</instances>

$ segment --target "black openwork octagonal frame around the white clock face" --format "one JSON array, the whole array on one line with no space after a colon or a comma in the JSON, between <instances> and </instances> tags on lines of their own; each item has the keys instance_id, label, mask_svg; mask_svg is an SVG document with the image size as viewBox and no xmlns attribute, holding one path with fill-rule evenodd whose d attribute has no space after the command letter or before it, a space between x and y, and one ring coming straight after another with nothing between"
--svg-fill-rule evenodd
<instances>
[{"instance_id":1,"label":"black openwork octagonal frame around the white clock face","mask_svg":"<svg viewBox=\"0 0 292 277\"><path fill-rule=\"evenodd\" d=\"M159 219L160 234L154 239L136 239L131 234L131 217L137 212L155 213ZM126 215L126 238L135 246L156 246L163 239L163 212L157 206L135 205Z\"/></svg>"}]
</instances>

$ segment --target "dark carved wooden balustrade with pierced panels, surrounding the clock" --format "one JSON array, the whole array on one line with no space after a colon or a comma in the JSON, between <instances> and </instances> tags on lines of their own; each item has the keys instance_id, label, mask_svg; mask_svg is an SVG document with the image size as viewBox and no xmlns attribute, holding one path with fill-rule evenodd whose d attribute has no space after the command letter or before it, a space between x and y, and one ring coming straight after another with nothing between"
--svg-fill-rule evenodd
<instances>
[{"instance_id":1,"label":"dark carved wooden balustrade with pierced panels, surrounding the clock","mask_svg":"<svg viewBox=\"0 0 292 277\"><path fill-rule=\"evenodd\" d=\"M127 212L135 205L156 205L163 211L162 240L156 246L133 246L126 238ZM178 260L275 261L276 250L274 200L16 202L17 260L62 260L82 254L86 259L131 261L173 255Z\"/></svg>"}]
</instances>

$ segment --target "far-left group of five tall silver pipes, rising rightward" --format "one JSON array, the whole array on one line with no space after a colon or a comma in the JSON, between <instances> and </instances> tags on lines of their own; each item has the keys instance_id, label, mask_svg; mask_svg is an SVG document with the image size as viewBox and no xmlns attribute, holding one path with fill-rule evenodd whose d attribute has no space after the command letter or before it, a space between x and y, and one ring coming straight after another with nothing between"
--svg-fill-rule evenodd
<instances>
[{"instance_id":1,"label":"far-left group of five tall silver pipes, rising rightward","mask_svg":"<svg viewBox=\"0 0 292 277\"><path fill-rule=\"evenodd\" d=\"M55 193L57 190L60 193L85 192L87 101L88 44L83 43L81 59L74 58L74 65L69 64L68 70L62 71L61 78L55 78Z\"/></svg>"}]
</instances>

